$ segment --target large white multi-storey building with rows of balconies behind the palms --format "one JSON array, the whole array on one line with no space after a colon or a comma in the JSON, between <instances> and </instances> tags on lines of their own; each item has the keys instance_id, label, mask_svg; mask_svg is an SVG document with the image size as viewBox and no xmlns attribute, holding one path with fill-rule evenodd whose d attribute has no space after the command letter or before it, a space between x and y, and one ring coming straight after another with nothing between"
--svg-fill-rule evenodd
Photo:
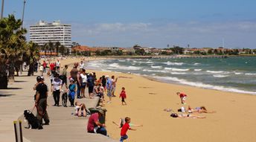
<instances>
[{"instance_id":1,"label":"large white multi-storey building with rows of balconies behind the palms","mask_svg":"<svg viewBox=\"0 0 256 142\"><path fill-rule=\"evenodd\" d=\"M67 48L71 48L71 25L61 24L60 21L47 23L39 21L36 25L30 26L30 41L38 45L48 42L60 42Z\"/></svg>"}]
</instances>

